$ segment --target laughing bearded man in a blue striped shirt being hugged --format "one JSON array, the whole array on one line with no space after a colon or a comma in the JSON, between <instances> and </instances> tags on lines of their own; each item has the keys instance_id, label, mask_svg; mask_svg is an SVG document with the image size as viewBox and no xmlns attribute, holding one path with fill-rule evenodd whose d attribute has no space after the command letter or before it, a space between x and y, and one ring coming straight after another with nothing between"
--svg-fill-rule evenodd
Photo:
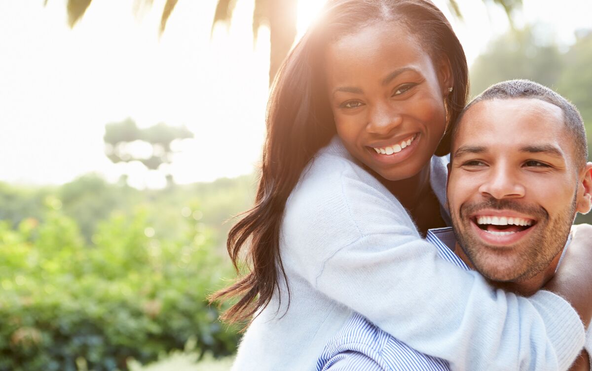
<instances>
[{"instance_id":1,"label":"laughing bearded man in a blue striped shirt being hugged","mask_svg":"<svg viewBox=\"0 0 592 371\"><path fill-rule=\"evenodd\" d=\"M454 233L430 230L427 239L443 259L477 269L492 285L534 294L555 274L575 214L592 205L580 114L552 90L513 80L469 103L452 137L447 195ZM591 343L588 330L588 353ZM589 362L583 352L572 370ZM317 370L449 367L354 314L327 344Z\"/></svg>"}]
</instances>

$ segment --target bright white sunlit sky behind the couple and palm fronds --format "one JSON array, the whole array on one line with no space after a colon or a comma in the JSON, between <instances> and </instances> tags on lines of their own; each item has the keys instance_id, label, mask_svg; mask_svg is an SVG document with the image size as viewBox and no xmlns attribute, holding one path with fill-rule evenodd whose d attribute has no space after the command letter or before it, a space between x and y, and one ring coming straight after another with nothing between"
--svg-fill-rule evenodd
<instances>
[{"instance_id":1,"label":"bright white sunlit sky behind the couple and palm fronds","mask_svg":"<svg viewBox=\"0 0 592 371\"><path fill-rule=\"evenodd\" d=\"M60 184L95 171L115 181L130 173L139 188L165 178L140 164L112 164L104 155L105 123L134 119L186 125L195 139L178 145L178 183L253 171L265 134L269 32L253 46L254 0L238 0L231 26L210 39L215 0L180 0L162 37L164 0L139 14L138 0L95 0L70 30L66 0L0 2L0 181ZM503 11L459 0L465 21L435 0L465 47L469 62L507 30ZM323 4L300 0L302 34ZM517 24L543 22L563 43L592 28L592 1L525 0Z\"/></svg>"}]
</instances>

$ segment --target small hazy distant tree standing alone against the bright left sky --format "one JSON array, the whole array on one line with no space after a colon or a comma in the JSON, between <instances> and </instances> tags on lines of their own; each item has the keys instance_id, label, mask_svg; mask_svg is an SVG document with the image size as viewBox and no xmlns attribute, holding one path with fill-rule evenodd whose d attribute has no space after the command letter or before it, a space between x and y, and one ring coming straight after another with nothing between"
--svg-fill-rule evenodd
<instances>
[{"instance_id":1,"label":"small hazy distant tree standing alone against the bright left sky","mask_svg":"<svg viewBox=\"0 0 592 371\"><path fill-rule=\"evenodd\" d=\"M173 150L170 144L175 139L193 138L186 126L169 126L157 123L140 129L131 118L105 125L105 154L113 163L140 161L149 170L159 170L163 164L170 164ZM162 170L162 169L160 169ZM169 184L170 174L166 174Z\"/></svg>"}]
</instances>

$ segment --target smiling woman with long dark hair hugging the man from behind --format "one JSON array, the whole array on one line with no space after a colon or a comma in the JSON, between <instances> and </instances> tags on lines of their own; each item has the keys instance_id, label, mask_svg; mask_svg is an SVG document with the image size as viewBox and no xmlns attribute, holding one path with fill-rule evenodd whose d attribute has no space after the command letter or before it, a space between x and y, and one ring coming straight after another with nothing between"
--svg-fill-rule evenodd
<instances>
[{"instance_id":1,"label":"smiling woman with long dark hair hugging the man from behind","mask_svg":"<svg viewBox=\"0 0 592 371\"><path fill-rule=\"evenodd\" d=\"M313 369L352 311L451 369L486 364L475 339L530 349L493 353L502 369L568 368L584 330L567 302L496 296L421 238L447 219L447 161L432 155L448 152L467 90L462 47L431 2L329 1L278 74L256 204L229 234L233 262L246 250L251 268L215 298L239 298L227 320L255 315L234 369Z\"/></svg>"}]
</instances>

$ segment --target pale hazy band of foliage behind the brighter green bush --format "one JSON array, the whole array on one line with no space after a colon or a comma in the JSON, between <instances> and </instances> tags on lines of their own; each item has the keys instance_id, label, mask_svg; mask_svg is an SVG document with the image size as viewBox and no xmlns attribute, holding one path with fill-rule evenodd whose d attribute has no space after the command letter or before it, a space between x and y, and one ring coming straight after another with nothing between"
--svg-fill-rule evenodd
<instances>
[{"instance_id":1,"label":"pale hazy band of foliage behind the brighter green bush","mask_svg":"<svg viewBox=\"0 0 592 371\"><path fill-rule=\"evenodd\" d=\"M211 241L222 254L231 225L224 222L252 206L254 194L253 175L140 191L86 174L57 188L0 183L0 220L12 227L30 217L43 222L44 209L49 206L76 220L90 243L101 220L116 211L131 213L136 206L146 210L147 222L161 238L176 239L184 233L183 212L191 215L196 228L210 230Z\"/></svg>"}]
</instances>

